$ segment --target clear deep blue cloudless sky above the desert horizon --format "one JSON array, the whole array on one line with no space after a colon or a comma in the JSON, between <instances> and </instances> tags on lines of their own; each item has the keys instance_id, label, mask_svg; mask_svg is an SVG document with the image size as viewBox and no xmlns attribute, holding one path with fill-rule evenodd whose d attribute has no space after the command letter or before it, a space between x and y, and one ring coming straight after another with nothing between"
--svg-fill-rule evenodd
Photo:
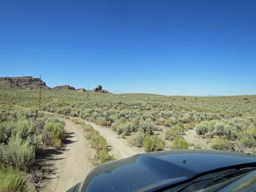
<instances>
[{"instance_id":1,"label":"clear deep blue cloudless sky above the desert horizon","mask_svg":"<svg viewBox=\"0 0 256 192\"><path fill-rule=\"evenodd\" d=\"M0 65L51 87L256 94L256 1L0 1Z\"/></svg>"}]
</instances>

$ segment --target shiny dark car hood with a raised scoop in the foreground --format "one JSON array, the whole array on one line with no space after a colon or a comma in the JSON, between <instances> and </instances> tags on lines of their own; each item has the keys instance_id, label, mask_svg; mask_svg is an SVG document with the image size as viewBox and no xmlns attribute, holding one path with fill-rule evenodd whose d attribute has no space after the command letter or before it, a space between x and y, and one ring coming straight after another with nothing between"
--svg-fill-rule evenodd
<instances>
[{"instance_id":1,"label":"shiny dark car hood with a raised scoop in the foreground","mask_svg":"<svg viewBox=\"0 0 256 192\"><path fill-rule=\"evenodd\" d=\"M97 166L76 191L152 191L214 170L255 163L256 156L227 151L177 150L138 154Z\"/></svg>"}]
</instances>

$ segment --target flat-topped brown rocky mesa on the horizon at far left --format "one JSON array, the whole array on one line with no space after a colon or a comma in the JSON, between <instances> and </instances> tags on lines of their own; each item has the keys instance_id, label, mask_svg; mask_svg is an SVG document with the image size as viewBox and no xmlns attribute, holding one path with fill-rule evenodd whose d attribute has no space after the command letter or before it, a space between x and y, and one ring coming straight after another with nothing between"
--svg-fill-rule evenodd
<instances>
[{"instance_id":1,"label":"flat-topped brown rocky mesa on the horizon at far left","mask_svg":"<svg viewBox=\"0 0 256 192\"><path fill-rule=\"evenodd\" d=\"M40 84L42 89L51 89L40 78L34 78L32 76L0 77L0 88L39 89Z\"/></svg>"}]
</instances>

